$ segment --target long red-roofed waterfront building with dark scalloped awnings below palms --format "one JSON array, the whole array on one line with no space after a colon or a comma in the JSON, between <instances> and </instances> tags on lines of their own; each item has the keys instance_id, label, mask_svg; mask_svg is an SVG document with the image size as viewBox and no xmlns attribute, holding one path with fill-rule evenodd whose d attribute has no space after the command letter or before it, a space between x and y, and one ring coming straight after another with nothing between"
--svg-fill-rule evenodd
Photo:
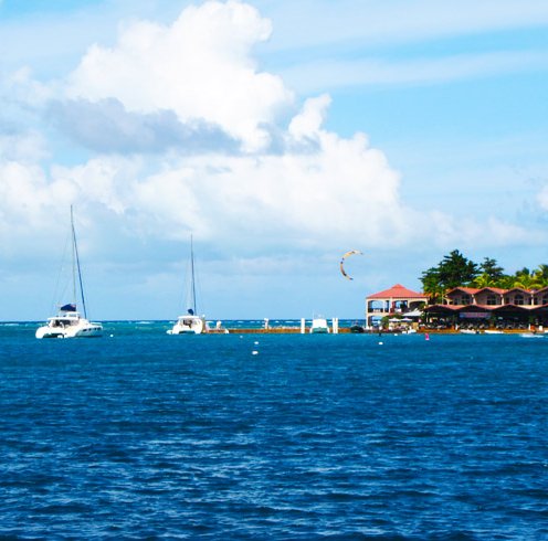
<instances>
[{"instance_id":1,"label":"long red-roofed waterfront building with dark scalloped awnings below palms","mask_svg":"<svg viewBox=\"0 0 548 541\"><path fill-rule=\"evenodd\" d=\"M445 294L443 304L424 310L426 319L443 318L452 325L537 323L548 321L548 287L455 287Z\"/></svg>"}]
</instances>

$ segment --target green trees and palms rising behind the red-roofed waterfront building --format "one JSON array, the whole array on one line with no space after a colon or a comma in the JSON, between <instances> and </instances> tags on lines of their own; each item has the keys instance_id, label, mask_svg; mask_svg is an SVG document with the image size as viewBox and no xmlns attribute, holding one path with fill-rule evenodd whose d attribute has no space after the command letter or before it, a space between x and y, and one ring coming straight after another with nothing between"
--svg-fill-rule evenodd
<instances>
[{"instance_id":1,"label":"green trees and palms rising behind the red-roofed waterfront building","mask_svg":"<svg viewBox=\"0 0 548 541\"><path fill-rule=\"evenodd\" d=\"M533 270L524 267L507 274L496 259L485 257L482 263L474 263L459 250L453 250L436 266L424 270L420 280L431 301L440 303L454 287L541 289L548 286L548 265L541 264Z\"/></svg>"}]
</instances>

